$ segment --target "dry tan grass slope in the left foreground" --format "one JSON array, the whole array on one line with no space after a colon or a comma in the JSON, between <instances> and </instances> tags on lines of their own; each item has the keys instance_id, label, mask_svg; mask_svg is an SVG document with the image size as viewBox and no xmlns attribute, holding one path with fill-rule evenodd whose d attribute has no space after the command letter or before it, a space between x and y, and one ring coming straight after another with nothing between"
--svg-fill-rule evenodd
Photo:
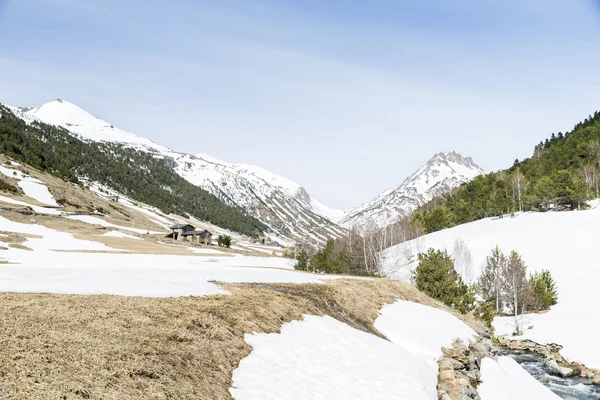
<instances>
[{"instance_id":1,"label":"dry tan grass slope in the left foreground","mask_svg":"<svg viewBox=\"0 0 600 400\"><path fill-rule=\"evenodd\" d=\"M441 307L384 279L226 288L232 296L0 294L0 399L229 399L251 351L245 333L328 314L378 334L383 304Z\"/></svg>"}]
</instances>

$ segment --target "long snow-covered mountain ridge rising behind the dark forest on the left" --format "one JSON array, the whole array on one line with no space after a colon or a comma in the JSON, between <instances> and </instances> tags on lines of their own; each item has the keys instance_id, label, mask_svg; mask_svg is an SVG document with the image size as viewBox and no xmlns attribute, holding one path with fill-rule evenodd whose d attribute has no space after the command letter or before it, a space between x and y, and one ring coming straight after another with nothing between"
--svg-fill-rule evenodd
<instances>
[{"instance_id":1,"label":"long snow-covered mountain ridge rising behind the dark forest on the left","mask_svg":"<svg viewBox=\"0 0 600 400\"><path fill-rule=\"evenodd\" d=\"M41 121L63 127L82 139L119 143L151 153L190 183L243 208L269 226L275 236L288 241L323 242L343 233L334 222L341 218L342 211L324 206L299 184L262 168L171 150L60 99L32 109L9 108L28 122Z\"/></svg>"}]
</instances>

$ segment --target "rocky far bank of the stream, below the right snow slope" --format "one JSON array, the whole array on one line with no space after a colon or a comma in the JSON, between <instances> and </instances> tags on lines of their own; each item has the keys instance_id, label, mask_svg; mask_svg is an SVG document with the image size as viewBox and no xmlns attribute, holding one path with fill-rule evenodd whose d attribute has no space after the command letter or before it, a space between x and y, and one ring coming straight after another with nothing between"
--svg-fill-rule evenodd
<instances>
[{"instance_id":1,"label":"rocky far bank of the stream, below the right snow slope","mask_svg":"<svg viewBox=\"0 0 600 400\"><path fill-rule=\"evenodd\" d=\"M566 360L560 355L562 346L558 344L544 345L531 340L511 340L507 335L498 336L496 339L500 346L508 350L526 351L543 357L546 360L546 366L557 376L568 378L577 375L583 379L589 379L594 385L600 385L600 370Z\"/></svg>"}]
</instances>

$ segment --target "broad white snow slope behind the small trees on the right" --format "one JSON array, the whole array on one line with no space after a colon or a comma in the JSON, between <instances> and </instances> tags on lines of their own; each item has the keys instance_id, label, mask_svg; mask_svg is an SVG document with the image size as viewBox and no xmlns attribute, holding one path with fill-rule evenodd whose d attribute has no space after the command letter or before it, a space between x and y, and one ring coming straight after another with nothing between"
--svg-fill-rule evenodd
<instances>
[{"instance_id":1,"label":"broad white snow slope behind the small trees on the right","mask_svg":"<svg viewBox=\"0 0 600 400\"><path fill-rule=\"evenodd\" d=\"M383 253L384 269L393 277L408 279L416 267L416 254L427 248L452 253L456 240L472 255L472 273L480 273L493 247L518 251L528 271L548 269L557 282L559 303L541 315L525 316L524 336L540 343L559 343L571 361L600 368L600 268L597 234L600 208L557 213L525 213L515 218L484 219L402 243ZM497 318L497 333L512 333L511 318ZM532 326L531 329L528 329Z\"/></svg>"}]
</instances>

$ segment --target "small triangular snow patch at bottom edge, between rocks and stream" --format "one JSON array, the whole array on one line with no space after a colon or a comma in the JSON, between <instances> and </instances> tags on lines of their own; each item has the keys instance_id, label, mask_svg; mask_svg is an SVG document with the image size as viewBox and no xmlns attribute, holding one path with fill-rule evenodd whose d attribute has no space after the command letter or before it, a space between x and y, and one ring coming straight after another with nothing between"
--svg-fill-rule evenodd
<instances>
[{"instance_id":1,"label":"small triangular snow patch at bottom edge, between rocks and stream","mask_svg":"<svg viewBox=\"0 0 600 400\"><path fill-rule=\"evenodd\" d=\"M484 358L481 381L477 388L481 400L560 399L509 357L498 357L498 361Z\"/></svg>"}]
</instances>

